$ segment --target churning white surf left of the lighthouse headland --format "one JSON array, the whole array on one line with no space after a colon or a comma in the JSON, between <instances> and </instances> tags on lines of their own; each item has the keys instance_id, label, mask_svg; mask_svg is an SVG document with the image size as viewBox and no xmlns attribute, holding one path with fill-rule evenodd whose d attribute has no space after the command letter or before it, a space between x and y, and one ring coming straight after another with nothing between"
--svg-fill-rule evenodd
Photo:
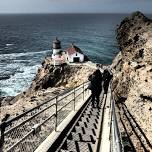
<instances>
[{"instance_id":1,"label":"churning white surf left of the lighthouse headland","mask_svg":"<svg viewBox=\"0 0 152 152\"><path fill-rule=\"evenodd\" d=\"M11 53L0 55L0 71L9 75L9 79L0 80L0 96L15 96L31 84L38 67L39 60L50 50L41 52Z\"/></svg>"}]
</instances>

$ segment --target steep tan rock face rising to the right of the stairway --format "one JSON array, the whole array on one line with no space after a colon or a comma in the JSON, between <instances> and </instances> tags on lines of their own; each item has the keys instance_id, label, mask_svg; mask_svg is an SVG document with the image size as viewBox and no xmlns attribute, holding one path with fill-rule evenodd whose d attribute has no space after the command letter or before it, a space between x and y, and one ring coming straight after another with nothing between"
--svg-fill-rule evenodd
<instances>
[{"instance_id":1,"label":"steep tan rock face rising to the right of the stairway","mask_svg":"<svg viewBox=\"0 0 152 152\"><path fill-rule=\"evenodd\" d=\"M113 91L152 142L152 21L136 12L117 28L120 52L113 60Z\"/></svg>"}]
</instances>

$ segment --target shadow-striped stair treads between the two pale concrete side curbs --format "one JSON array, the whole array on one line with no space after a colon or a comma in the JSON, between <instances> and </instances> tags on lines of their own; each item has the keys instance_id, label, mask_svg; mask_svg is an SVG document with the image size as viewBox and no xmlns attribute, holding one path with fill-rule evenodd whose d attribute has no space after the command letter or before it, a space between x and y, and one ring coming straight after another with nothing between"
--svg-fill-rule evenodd
<instances>
[{"instance_id":1,"label":"shadow-striped stair treads between the two pale concrete side curbs","mask_svg":"<svg viewBox=\"0 0 152 152\"><path fill-rule=\"evenodd\" d=\"M94 151L101 126L102 101L104 101L103 94L101 96L100 108L93 108L89 101L56 152ZM49 151L51 152L51 149Z\"/></svg>"}]
</instances>

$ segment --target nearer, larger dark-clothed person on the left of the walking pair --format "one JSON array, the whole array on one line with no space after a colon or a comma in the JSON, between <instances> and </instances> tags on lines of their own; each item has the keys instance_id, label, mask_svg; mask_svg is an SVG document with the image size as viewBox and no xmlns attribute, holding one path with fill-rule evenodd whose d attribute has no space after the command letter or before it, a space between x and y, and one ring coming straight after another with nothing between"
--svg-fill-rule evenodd
<instances>
[{"instance_id":1,"label":"nearer, larger dark-clothed person on the left of the walking pair","mask_svg":"<svg viewBox=\"0 0 152 152\"><path fill-rule=\"evenodd\" d=\"M89 76L90 86L89 89L92 93L92 105L95 107L96 104L99 107L99 96L102 91L102 74L100 70L96 70L92 75Z\"/></svg>"}]
</instances>

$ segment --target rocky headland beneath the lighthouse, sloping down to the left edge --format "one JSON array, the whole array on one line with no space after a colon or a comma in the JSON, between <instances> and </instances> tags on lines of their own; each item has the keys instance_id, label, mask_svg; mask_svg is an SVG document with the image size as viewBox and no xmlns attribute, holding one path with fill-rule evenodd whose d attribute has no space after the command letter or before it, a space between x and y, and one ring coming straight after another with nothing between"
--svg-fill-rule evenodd
<instances>
[{"instance_id":1,"label":"rocky headland beneath the lighthouse, sloping down to the left edge","mask_svg":"<svg viewBox=\"0 0 152 152\"><path fill-rule=\"evenodd\" d=\"M95 68L96 64L92 62L54 67L51 64L50 57L45 58L31 86L27 90L16 97L0 99L0 120L6 114L14 117L50 99L56 94L79 86L88 80L88 76L93 73Z\"/></svg>"}]
</instances>

